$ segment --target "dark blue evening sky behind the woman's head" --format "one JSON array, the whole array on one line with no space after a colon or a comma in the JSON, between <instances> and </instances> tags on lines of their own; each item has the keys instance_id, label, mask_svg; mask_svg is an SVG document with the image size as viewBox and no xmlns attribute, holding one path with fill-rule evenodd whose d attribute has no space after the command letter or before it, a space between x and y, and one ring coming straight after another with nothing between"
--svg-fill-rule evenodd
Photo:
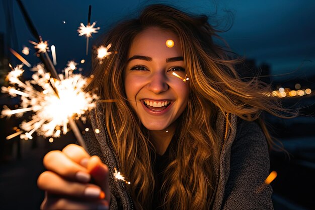
<instances>
[{"instance_id":1,"label":"dark blue evening sky behind the woman's head","mask_svg":"<svg viewBox=\"0 0 315 210\"><path fill-rule=\"evenodd\" d=\"M2 0L8 2L10 0ZM21 11L15 1L13 13L18 34L18 52L23 45L32 47ZM291 76L315 74L315 1L313 0L208 0L208 1L23 1L34 25L44 40L56 46L57 68L66 61L89 60L85 55L86 40L78 37L77 27L87 23L88 8L92 5L91 21L97 21L100 32L117 20L132 16L139 6L150 3L168 3L193 13L213 14L226 19L228 10L233 13L231 29L222 33L231 48L258 63L271 65L272 74L295 71ZM0 32L6 33L5 12L0 7ZM63 21L66 23L63 24ZM93 39L97 37L93 35ZM92 41L93 41L92 39ZM91 45L90 45L91 46ZM25 56L37 62L35 50ZM32 63L35 64L35 63ZM87 66L85 66L87 68ZM290 77L291 77L290 76Z\"/></svg>"}]
</instances>

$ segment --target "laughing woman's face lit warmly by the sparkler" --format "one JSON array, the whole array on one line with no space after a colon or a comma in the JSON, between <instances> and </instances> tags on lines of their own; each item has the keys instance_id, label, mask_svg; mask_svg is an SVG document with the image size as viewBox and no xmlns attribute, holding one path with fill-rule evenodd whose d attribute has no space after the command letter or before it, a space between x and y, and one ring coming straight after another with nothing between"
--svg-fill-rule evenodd
<instances>
[{"instance_id":1,"label":"laughing woman's face lit warmly by the sparkler","mask_svg":"<svg viewBox=\"0 0 315 210\"><path fill-rule=\"evenodd\" d=\"M174 46L168 47L167 40ZM125 69L127 99L148 130L168 128L184 111L189 97L183 53L178 37L160 28L147 28L130 47Z\"/></svg>"}]
</instances>

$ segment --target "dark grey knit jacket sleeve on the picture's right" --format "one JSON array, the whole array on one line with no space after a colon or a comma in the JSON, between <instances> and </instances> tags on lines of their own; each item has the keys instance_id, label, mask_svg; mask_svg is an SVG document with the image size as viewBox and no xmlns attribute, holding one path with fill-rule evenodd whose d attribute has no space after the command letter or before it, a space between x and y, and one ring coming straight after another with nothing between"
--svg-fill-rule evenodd
<instances>
[{"instance_id":1,"label":"dark grey knit jacket sleeve on the picture's right","mask_svg":"<svg viewBox=\"0 0 315 210\"><path fill-rule=\"evenodd\" d=\"M242 121L230 155L230 173L222 209L273 209L269 175L269 153L265 135L255 122Z\"/></svg>"}]
</instances>

